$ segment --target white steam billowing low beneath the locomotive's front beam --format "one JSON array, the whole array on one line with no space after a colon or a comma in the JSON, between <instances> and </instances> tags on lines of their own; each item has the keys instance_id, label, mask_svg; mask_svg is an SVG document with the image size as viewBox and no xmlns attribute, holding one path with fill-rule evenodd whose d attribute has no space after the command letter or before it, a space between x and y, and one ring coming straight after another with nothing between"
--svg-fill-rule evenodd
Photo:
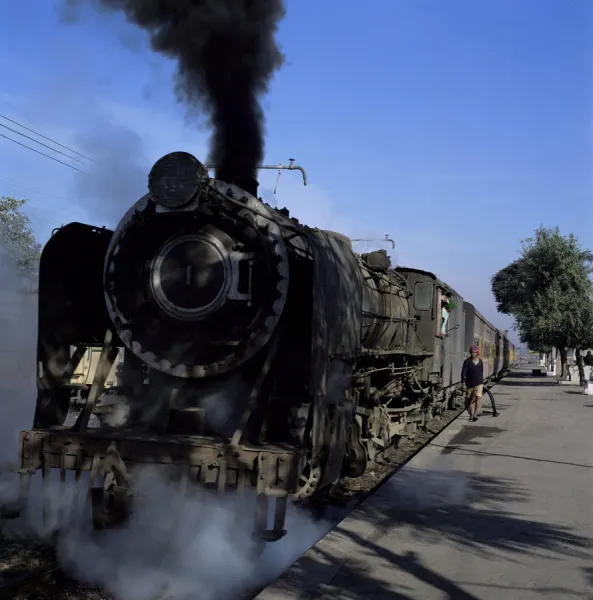
<instances>
[{"instance_id":1,"label":"white steam billowing low beneath the locomotive's front beam","mask_svg":"<svg viewBox=\"0 0 593 600\"><path fill-rule=\"evenodd\" d=\"M57 475L57 474L53 474ZM82 479L82 487L88 477ZM138 494L123 529L92 531L90 507L75 484L48 487L50 528L59 528L61 564L76 579L98 585L117 600L227 600L262 586L281 574L330 528L289 506L288 533L263 554L251 558L255 495L247 490L215 495L197 485L170 481L156 467L136 471ZM41 505L34 498L26 531L43 537Z\"/></svg>"}]
</instances>

